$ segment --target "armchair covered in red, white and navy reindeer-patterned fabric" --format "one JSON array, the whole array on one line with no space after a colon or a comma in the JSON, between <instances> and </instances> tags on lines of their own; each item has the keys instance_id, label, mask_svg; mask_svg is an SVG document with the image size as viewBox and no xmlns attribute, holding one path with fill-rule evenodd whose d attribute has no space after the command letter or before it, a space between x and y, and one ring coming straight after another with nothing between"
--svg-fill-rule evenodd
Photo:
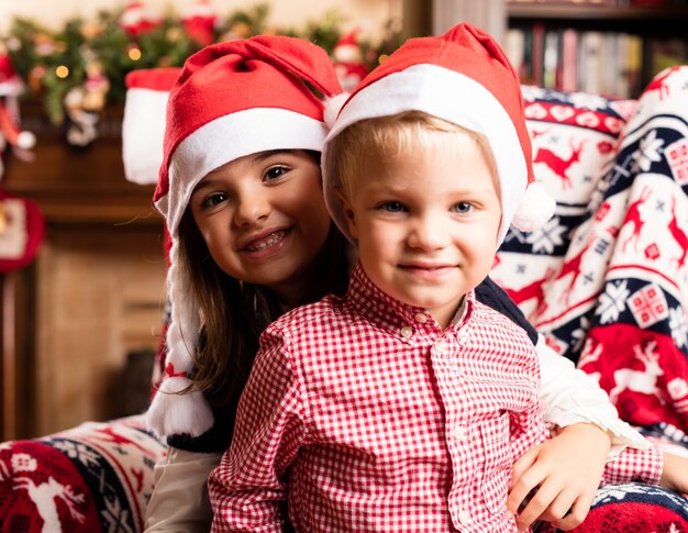
<instances>
[{"instance_id":1,"label":"armchair covered in red, white and navy reindeer-patterned fabric","mask_svg":"<svg viewBox=\"0 0 688 533\"><path fill-rule=\"evenodd\" d=\"M624 420L688 455L688 67L637 100L523 92L558 208L544 230L509 233L492 277ZM141 531L164 455L142 415L0 444L0 531ZM609 486L577 531L688 531L688 500Z\"/></svg>"}]
</instances>

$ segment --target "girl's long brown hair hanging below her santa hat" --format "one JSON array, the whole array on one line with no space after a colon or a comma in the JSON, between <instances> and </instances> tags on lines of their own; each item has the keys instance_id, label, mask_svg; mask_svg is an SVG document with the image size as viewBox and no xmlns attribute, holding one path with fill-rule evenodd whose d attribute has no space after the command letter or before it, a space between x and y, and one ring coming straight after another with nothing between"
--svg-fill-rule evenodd
<instances>
[{"instance_id":1,"label":"girl's long brown hair hanging below her santa hat","mask_svg":"<svg viewBox=\"0 0 688 533\"><path fill-rule=\"evenodd\" d=\"M248 379L258 336L286 309L269 289L242 282L218 267L188 209L179 225L178 246L178 275L189 280L201 313L193 384L211 404L233 412ZM333 223L311 271L312 285L299 304L346 291L346 242Z\"/></svg>"}]
</instances>

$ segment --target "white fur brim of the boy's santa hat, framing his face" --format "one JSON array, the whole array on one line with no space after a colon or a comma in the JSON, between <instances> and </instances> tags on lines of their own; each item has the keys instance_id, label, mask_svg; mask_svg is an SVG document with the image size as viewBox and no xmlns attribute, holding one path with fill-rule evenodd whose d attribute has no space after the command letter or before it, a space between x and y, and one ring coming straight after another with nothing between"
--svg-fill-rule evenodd
<instances>
[{"instance_id":1,"label":"white fur brim of the boy's santa hat, framing his face","mask_svg":"<svg viewBox=\"0 0 688 533\"><path fill-rule=\"evenodd\" d=\"M324 193L328 209L340 230L348 229L334 193L328 145L345 127L365 119L422 111L480 133L497 164L501 189L501 242L528 185L523 147L512 122L495 96L475 79L447 68L420 64L390 74L355 93L344 106L323 148Z\"/></svg>"}]
</instances>

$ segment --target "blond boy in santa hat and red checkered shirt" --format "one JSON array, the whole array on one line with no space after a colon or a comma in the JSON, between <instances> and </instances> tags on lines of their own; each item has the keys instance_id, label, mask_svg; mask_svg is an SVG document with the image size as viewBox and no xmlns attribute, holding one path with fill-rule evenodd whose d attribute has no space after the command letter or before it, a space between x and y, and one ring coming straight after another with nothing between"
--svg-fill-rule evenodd
<instances>
[{"instance_id":1,"label":"blond boy in santa hat and red checkered shirt","mask_svg":"<svg viewBox=\"0 0 688 533\"><path fill-rule=\"evenodd\" d=\"M474 289L553 201L501 49L467 24L407 42L344 103L323 188L359 262L345 297L263 333L213 531L515 532L511 468L547 436L540 366Z\"/></svg>"}]
</instances>

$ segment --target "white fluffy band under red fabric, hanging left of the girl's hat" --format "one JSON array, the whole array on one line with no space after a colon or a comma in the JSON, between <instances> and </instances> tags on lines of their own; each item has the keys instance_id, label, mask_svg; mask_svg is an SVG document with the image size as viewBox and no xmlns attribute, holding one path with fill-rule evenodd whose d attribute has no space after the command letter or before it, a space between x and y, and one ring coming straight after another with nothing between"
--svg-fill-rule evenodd
<instances>
[{"instance_id":1,"label":"white fluffy band under red fabric, hanging left of the girl's hat","mask_svg":"<svg viewBox=\"0 0 688 533\"><path fill-rule=\"evenodd\" d=\"M126 91L122 120L124 176L138 185L157 182L163 163L165 109L169 92L134 88Z\"/></svg>"}]
</instances>

